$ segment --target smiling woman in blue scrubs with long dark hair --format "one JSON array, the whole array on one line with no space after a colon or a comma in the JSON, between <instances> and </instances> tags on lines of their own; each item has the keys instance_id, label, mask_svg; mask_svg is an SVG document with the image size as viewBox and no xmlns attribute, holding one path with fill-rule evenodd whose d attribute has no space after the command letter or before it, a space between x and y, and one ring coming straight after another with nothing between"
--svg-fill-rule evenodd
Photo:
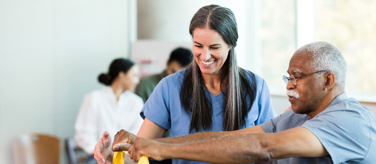
<instances>
[{"instance_id":1,"label":"smiling woman in blue scrubs with long dark hair","mask_svg":"<svg viewBox=\"0 0 376 164\"><path fill-rule=\"evenodd\" d=\"M268 87L261 77L237 65L235 15L218 5L204 6L191 20L193 60L188 68L159 82L141 110L137 137L162 138L203 131L234 131L276 117ZM115 135L114 150L126 149L136 136ZM94 150L99 162L112 155L104 133ZM103 151L102 151L103 150ZM102 162L104 163L104 162ZM174 164L203 163L173 159Z\"/></svg>"}]
</instances>

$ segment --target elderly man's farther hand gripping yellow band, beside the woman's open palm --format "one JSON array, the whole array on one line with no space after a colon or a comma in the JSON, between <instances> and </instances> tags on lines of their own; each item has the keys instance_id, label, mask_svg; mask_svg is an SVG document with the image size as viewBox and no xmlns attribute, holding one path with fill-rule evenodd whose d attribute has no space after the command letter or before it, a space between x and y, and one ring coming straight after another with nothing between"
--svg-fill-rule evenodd
<instances>
[{"instance_id":1,"label":"elderly man's farther hand gripping yellow band, beside the woman's open palm","mask_svg":"<svg viewBox=\"0 0 376 164\"><path fill-rule=\"evenodd\" d=\"M130 146L132 146L133 143L135 143L137 136L127 132L124 129L121 129L118 131L114 137L114 143L112 144L112 151L118 152L118 151L126 151L129 149Z\"/></svg>"}]
</instances>

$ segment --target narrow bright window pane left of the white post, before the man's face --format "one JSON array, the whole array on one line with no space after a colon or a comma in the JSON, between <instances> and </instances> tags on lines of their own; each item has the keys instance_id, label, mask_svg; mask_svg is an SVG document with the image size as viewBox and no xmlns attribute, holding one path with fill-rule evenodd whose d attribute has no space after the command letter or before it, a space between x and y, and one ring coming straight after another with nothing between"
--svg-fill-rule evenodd
<instances>
[{"instance_id":1,"label":"narrow bright window pane left of the white post, before the man's face","mask_svg":"<svg viewBox=\"0 0 376 164\"><path fill-rule=\"evenodd\" d=\"M285 94L288 63L296 50L296 0L263 0L261 11L262 77L271 94Z\"/></svg>"}]
</instances>

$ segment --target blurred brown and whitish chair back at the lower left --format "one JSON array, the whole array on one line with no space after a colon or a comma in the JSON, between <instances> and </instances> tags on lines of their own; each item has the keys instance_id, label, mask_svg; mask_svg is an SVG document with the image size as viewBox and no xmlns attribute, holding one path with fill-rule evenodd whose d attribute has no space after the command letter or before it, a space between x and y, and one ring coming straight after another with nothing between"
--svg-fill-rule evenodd
<instances>
[{"instance_id":1,"label":"blurred brown and whitish chair back at the lower left","mask_svg":"<svg viewBox=\"0 0 376 164\"><path fill-rule=\"evenodd\" d=\"M24 134L13 141L15 164L59 164L60 140L46 134Z\"/></svg>"}]
</instances>

